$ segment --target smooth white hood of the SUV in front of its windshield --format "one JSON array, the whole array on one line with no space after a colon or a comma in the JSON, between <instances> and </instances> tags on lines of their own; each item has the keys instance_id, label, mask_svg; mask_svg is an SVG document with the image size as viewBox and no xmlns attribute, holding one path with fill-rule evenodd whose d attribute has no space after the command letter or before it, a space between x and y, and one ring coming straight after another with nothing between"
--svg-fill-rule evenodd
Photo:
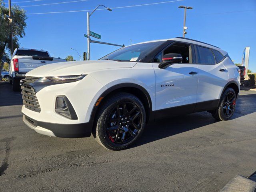
<instances>
[{"instance_id":1,"label":"smooth white hood of the SUV in front of its windshield","mask_svg":"<svg viewBox=\"0 0 256 192\"><path fill-rule=\"evenodd\" d=\"M136 62L118 62L111 60L59 62L35 68L26 73L26 76L47 77L80 75L89 74L95 70L104 70L110 68L130 68L135 65Z\"/></svg>"}]
</instances>

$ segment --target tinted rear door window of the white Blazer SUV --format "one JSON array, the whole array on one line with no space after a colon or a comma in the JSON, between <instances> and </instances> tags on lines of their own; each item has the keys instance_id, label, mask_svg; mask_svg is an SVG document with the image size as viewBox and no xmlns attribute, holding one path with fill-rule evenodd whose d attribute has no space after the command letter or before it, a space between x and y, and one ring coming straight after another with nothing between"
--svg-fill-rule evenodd
<instances>
[{"instance_id":1,"label":"tinted rear door window of the white Blazer SUV","mask_svg":"<svg viewBox=\"0 0 256 192\"><path fill-rule=\"evenodd\" d=\"M215 59L212 51L208 48L196 46L197 61L200 64L215 64Z\"/></svg>"}]
</instances>

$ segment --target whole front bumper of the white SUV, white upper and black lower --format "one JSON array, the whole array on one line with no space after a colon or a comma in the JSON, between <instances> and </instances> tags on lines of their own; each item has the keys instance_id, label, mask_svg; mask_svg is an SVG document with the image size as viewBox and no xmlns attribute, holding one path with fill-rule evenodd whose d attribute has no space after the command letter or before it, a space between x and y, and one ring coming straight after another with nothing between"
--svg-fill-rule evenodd
<instances>
[{"instance_id":1,"label":"whole front bumper of the white SUV, white upper and black lower","mask_svg":"<svg viewBox=\"0 0 256 192\"><path fill-rule=\"evenodd\" d=\"M98 81L87 75L84 79L64 84L44 85L34 89L40 112L22 106L22 114L32 120L24 122L36 132L62 138L90 137L94 116L94 105L105 90ZM77 119L69 119L55 112L57 96L66 96L74 108Z\"/></svg>"}]
</instances>

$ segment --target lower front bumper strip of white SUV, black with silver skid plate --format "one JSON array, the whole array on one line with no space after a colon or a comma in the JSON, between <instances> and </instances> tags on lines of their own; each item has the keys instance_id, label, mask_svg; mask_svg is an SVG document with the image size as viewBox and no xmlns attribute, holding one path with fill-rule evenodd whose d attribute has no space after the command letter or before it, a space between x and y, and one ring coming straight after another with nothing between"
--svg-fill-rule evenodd
<instances>
[{"instance_id":1,"label":"lower front bumper strip of white SUV, black with silver skid plate","mask_svg":"<svg viewBox=\"0 0 256 192\"><path fill-rule=\"evenodd\" d=\"M29 128L40 134L62 138L90 137L93 126L93 121L80 124L55 124L36 121L26 115L23 115L23 121Z\"/></svg>"}]
</instances>

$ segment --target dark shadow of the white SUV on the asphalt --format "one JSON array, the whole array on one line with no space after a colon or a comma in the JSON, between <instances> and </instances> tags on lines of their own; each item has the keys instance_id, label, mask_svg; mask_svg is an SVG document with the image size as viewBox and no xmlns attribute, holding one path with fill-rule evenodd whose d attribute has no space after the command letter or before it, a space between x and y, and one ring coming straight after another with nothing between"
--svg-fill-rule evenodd
<instances>
[{"instance_id":1,"label":"dark shadow of the white SUV on the asphalt","mask_svg":"<svg viewBox=\"0 0 256 192\"><path fill-rule=\"evenodd\" d=\"M256 112L256 94L240 95L237 100L235 113L231 119L236 119L254 112ZM218 120L214 119L206 111L156 120L145 127L142 136L131 148L216 122Z\"/></svg>"}]
</instances>

